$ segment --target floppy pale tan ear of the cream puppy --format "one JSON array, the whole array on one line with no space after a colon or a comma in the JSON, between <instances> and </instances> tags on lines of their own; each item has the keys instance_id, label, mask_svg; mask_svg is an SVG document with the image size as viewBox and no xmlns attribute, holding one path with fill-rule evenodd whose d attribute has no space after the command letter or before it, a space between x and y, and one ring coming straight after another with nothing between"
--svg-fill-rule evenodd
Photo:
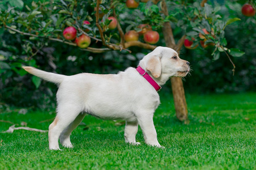
<instances>
[{"instance_id":1,"label":"floppy pale tan ear of the cream puppy","mask_svg":"<svg viewBox=\"0 0 256 170\"><path fill-rule=\"evenodd\" d=\"M162 65L160 62L160 57L159 56L151 56L146 65L146 70L150 71L150 73L155 77L159 78L159 76L162 73Z\"/></svg>"}]
</instances>

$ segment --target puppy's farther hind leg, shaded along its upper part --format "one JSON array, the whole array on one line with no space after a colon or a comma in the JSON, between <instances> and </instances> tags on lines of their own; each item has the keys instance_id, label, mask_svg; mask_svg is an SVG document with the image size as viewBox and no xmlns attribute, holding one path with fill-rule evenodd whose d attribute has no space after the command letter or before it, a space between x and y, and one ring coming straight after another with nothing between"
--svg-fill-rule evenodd
<instances>
[{"instance_id":1,"label":"puppy's farther hind leg, shaded along its upper part","mask_svg":"<svg viewBox=\"0 0 256 170\"><path fill-rule=\"evenodd\" d=\"M73 130L77 128L77 126L81 123L81 121L84 119L86 113L80 113L76 119L68 125L66 129L63 130L63 132L60 134L60 143L64 147L73 147L70 141L70 135Z\"/></svg>"}]
</instances>

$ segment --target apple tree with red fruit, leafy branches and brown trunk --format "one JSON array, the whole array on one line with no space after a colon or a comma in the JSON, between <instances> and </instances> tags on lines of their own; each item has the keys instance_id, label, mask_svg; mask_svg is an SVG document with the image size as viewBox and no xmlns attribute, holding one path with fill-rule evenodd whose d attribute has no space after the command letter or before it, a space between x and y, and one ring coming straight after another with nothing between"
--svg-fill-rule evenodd
<instances>
[{"instance_id":1,"label":"apple tree with red fruit, leafy branches and brown trunk","mask_svg":"<svg viewBox=\"0 0 256 170\"><path fill-rule=\"evenodd\" d=\"M253 1L243 7L244 15L255 15ZM212 59L220 53L230 59L244 54L240 49L226 47L225 28L240 19L223 20L218 14L220 5L211 1L165 0L42 0L24 5L22 0L3 0L0 3L0 27L11 34L19 34L27 40L24 53L27 58L20 63L36 66L32 61L42 46L49 41L68 44L74 50L105 53L111 50L130 53L132 47L154 50L156 46L168 46L179 52L181 46L188 49L210 48ZM31 57L32 56L32 57ZM181 57L182 58L182 57ZM13 70L23 75L21 64L9 66L0 62L2 73ZM187 120L187 103L181 78L172 79L176 115ZM34 78L36 86L40 80Z\"/></svg>"}]
</instances>

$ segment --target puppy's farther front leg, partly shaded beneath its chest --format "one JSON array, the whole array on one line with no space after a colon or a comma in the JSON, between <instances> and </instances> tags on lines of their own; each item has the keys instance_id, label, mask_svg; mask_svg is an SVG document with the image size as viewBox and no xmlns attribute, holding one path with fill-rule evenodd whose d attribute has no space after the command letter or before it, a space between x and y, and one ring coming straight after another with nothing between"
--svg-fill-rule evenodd
<instances>
[{"instance_id":1,"label":"puppy's farther front leg, partly shaded beneath its chest","mask_svg":"<svg viewBox=\"0 0 256 170\"><path fill-rule=\"evenodd\" d=\"M125 142L133 145L140 145L141 143L136 142L136 134L138 132L138 121L127 122L125 124Z\"/></svg>"}]
</instances>

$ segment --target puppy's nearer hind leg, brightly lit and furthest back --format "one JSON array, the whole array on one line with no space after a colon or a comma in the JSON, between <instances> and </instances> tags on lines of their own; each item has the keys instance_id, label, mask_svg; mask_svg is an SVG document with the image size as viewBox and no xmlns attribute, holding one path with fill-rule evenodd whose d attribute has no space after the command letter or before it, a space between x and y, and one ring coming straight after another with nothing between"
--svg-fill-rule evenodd
<instances>
[{"instance_id":1,"label":"puppy's nearer hind leg, brightly lit and furthest back","mask_svg":"<svg viewBox=\"0 0 256 170\"><path fill-rule=\"evenodd\" d=\"M61 105L58 107L55 120L49 125L49 149L60 150L59 137L65 128L67 128L79 115L80 111L74 105Z\"/></svg>"}]
</instances>

